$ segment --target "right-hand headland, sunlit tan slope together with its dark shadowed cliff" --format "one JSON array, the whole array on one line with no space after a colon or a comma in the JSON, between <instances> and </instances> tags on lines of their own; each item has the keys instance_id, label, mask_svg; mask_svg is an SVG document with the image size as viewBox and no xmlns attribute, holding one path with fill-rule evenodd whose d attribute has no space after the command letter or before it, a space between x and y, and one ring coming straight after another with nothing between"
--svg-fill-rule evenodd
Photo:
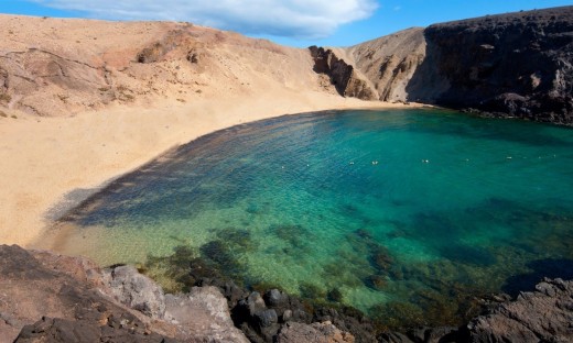
<instances>
[{"instance_id":1,"label":"right-hand headland, sunlit tan slope together with its dark shadowed cliff","mask_svg":"<svg viewBox=\"0 0 573 343\"><path fill-rule=\"evenodd\" d=\"M573 124L573 7L414 27L345 51L383 101Z\"/></svg>"}]
</instances>

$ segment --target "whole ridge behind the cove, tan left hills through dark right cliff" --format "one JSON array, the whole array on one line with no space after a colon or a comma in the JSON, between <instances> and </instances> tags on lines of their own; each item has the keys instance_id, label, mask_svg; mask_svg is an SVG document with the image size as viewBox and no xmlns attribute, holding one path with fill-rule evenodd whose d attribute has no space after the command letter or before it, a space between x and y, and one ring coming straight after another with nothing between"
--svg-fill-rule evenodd
<instances>
[{"instance_id":1,"label":"whole ridge behind the cove, tan left hills through dark right cliff","mask_svg":"<svg viewBox=\"0 0 573 343\"><path fill-rule=\"evenodd\" d=\"M34 35L20 36L23 23ZM170 96L191 101L208 89L334 86L343 97L573 124L573 7L413 27L310 54L190 23L94 21L89 34L73 20L11 16L1 24L0 109L8 114L62 115Z\"/></svg>"}]
</instances>

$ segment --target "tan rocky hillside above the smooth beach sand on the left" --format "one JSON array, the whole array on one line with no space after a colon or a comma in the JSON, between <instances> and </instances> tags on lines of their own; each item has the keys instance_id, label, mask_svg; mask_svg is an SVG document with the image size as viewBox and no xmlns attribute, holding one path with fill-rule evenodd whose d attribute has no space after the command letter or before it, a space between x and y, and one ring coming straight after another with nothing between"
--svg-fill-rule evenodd
<instances>
[{"instance_id":1,"label":"tan rocky hillside above the smooth beach sand on the left","mask_svg":"<svg viewBox=\"0 0 573 343\"><path fill-rule=\"evenodd\" d=\"M2 15L0 30L0 108L9 114L322 89L306 52L190 23Z\"/></svg>"}]
</instances>

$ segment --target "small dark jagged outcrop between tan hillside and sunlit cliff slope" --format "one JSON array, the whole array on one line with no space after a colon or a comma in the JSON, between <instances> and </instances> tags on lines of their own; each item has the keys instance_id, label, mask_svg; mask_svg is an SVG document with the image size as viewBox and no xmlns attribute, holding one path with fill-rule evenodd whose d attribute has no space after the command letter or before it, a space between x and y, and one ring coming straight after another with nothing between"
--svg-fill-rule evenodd
<instances>
[{"instance_id":1,"label":"small dark jagged outcrop between tan hillside and sunlit cliff slope","mask_svg":"<svg viewBox=\"0 0 573 343\"><path fill-rule=\"evenodd\" d=\"M317 46L311 46L309 49L314 59L314 71L327 75L340 96L363 100L378 98L376 91L358 75L354 66L338 58L332 49Z\"/></svg>"}]
</instances>

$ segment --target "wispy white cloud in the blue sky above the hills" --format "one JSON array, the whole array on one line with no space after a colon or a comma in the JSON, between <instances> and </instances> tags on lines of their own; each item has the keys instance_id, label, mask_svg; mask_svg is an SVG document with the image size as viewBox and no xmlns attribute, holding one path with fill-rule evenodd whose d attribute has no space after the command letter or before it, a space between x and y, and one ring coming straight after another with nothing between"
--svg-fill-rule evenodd
<instances>
[{"instance_id":1,"label":"wispy white cloud in the blue sky above the hills","mask_svg":"<svg viewBox=\"0 0 573 343\"><path fill-rule=\"evenodd\" d=\"M368 18L376 0L32 0L113 20L173 20L250 34L318 38Z\"/></svg>"}]
</instances>

